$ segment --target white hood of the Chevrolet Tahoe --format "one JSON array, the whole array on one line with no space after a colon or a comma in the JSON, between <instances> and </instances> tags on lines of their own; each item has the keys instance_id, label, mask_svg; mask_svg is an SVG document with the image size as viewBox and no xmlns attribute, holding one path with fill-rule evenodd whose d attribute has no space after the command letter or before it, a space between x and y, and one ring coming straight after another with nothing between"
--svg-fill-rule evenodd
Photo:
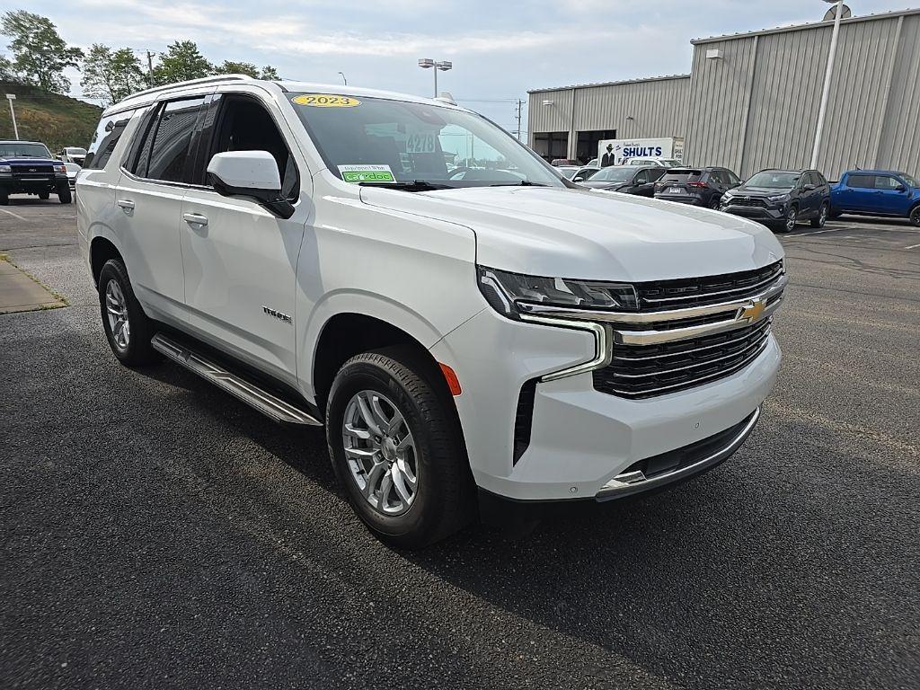
<instances>
[{"instance_id":1,"label":"white hood of the Chevrolet Tahoe","mask_svg":"<svg viewBox=\"0 0 920 690\"><path fill-rule=\"evenodd\" d=\"M406 192L364 187L364 203L470 228L477 262L539 276L691 278L783 256L773 233L737 216L626 194L540 187Z\"/></svg>"}]
</instances>

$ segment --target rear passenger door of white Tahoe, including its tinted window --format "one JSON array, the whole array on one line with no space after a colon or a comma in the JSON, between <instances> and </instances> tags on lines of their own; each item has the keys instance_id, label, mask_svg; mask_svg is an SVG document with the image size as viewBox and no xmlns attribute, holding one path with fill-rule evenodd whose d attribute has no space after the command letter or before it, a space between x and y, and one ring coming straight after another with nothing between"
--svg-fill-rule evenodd
<instances>
[{"instance_id":1,"label":"rear passenger door of white Tahoe, including its tinted window","mask_svg":"<svg viewBox=\"0 0 920 690\"><path fill-rule=\"evenodd\" d=\"M179 325L188 321L179 216L205 98L171 98L149 109L115 190L116 231L134 293L150 316Z\"/></svg>"}]
</instances>

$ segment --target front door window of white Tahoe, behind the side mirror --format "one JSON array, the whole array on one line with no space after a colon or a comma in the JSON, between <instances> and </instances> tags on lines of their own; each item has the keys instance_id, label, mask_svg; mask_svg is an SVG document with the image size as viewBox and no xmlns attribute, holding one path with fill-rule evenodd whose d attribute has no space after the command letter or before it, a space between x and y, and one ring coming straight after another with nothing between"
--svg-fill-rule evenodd
<instances>
[{"instance_id":1,"label":"front door window of white Tahoe, behind the side mirror","mask_svg":"<svg viewBox=\"0 0 920 690\"><path fill-rule=\"evenodd\" d=\"M300 196L300 177L293 155L269 111L254 98L224 95L216 106L217 121L210 147L199 158L192 181L207 184L205 170L215 154L225 151L268 151L278 164L282 196L295 201Z\"/></svg>"}]
</instances>

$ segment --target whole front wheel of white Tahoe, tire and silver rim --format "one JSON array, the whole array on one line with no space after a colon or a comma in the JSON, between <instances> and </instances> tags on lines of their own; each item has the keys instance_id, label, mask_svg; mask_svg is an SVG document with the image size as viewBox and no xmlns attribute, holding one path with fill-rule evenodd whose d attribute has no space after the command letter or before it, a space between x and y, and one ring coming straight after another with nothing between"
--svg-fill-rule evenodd
<instances>
[{"instance_id":1,"label":"whole front wheel of white Tahoe, tire and silver rim","mask_svg":"<svg viewBox=\"0 0 920 690\"><path fill-rule=\"evenodd\" d=\"M454 415L412 351L352 357L329 392L326 438L354 512L394 546L420 548L472 518L472 477Z\"/></svg>"}]
</instances>

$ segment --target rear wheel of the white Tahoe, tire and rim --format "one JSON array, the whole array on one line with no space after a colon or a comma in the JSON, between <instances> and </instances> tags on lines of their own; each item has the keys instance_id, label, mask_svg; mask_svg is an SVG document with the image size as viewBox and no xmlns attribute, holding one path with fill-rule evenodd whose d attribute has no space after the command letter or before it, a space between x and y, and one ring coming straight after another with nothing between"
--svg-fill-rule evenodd
<instances>
[{"instance_id":1,"label":"rear wheel of the white Tahoe, tire and rim","mask_svg":"<svg viewBox=\"0 0 920 690\"><path fill-rule=\"evenodd\" d=\"M134 296L128 271L119 259L109 259L102 267L98 291L102 328L119 362L126 366L158 362L159 354L150 346L153 322Z\"/></svg>"}]
</instances>

